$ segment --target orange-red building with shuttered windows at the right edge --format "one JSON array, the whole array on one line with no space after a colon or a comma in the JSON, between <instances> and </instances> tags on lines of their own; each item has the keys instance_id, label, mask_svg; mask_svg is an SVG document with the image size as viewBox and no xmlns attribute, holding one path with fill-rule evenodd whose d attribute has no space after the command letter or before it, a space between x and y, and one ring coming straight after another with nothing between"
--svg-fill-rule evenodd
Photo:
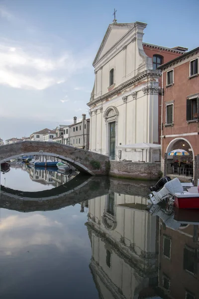
<instances>
[{"instance_id":1,"label":"orange-red building with shuttered windows at the right edge","mask_svg":"<svg viewBox=\"0 0 199 299\"><path fill-rule=\"evenodd\" d=\"M164 172L165 153L186 149L190 156L184 162L188 164L193 164L193 158L199 154L199 47L158 69L163 72L161 166ZM167 173L171 173L170 162L175 161L168 160Z\"/></svg>"}]
</instances>

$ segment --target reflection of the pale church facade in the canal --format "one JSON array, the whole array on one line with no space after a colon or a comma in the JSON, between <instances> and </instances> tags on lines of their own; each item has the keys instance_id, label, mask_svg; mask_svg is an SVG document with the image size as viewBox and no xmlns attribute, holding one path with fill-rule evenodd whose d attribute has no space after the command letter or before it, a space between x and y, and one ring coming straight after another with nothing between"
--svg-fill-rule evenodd
<instances>
[{"instance_id":1,"label":"reflection of the pale church facade in the canal","mask_svg":"<svg viewBox=\"0 0 199 299\"><path fill-rule=\"evenodd\" d=\"M101 298L153 296L157 279L156 217L121 204L146 203L139 196L110 192L90 200L90 268ZM146 297L142 297L146 298Z\"/></svg>"}]
</instances>

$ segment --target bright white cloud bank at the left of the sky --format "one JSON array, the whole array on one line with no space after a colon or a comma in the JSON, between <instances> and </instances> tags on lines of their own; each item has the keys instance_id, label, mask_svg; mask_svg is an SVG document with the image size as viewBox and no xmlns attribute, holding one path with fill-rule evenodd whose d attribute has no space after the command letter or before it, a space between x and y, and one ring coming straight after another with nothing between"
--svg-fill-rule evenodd
<instances>
[{"instance_id":1,"label":"bright white cloud bank at the left of the sky","mask_svg":"<svg viewBox=\"0 0 199 299\"><path fill-rule=\"evenodd\" d=\"M33 46L36 49L36 46ZM0 84L20 89L43 90L67 81L88 65L87 57L65 52L49 57L45 49L31 52L24 47L0 44Z\"/></svg>"}]
</instances>

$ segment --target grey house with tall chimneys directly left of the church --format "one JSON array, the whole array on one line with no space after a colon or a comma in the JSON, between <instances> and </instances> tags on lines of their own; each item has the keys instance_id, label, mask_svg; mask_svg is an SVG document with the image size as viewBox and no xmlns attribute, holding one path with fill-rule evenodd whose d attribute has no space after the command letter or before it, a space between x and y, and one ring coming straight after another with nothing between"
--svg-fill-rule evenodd
<instances>
[{"instance_id":1,"label":"grey house with tall chimneys directly left of the church","mask_svg":"<svg viewBox=\"0 0 199 299\"><path fill-rule=\"evenodd\" d=\"M90 119L86 114L82 115L82 121L77 123L74 117L74 124L70 125L70 145L80 149L89 149Z\"/></svg>"}]
</instances>

